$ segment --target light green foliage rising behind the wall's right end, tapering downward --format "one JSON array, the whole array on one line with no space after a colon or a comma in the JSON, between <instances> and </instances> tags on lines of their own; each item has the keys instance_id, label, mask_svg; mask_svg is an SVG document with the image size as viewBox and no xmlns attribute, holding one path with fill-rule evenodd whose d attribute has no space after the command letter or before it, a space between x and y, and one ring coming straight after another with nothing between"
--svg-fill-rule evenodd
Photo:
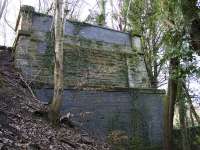
<instances>
[{"instance_id":1,"label":"light green foliage rising behind the wall's right end, tapering downward","mask_svg":"<svg viewBox=\"0 0 200 150\"><path fill-rule=\"evenodd\" d=\"M141 47L147 74L152 88L157 88L158 76L164 65L163 43L167 29L164 28L165 13L162 0L125 0L128 28L132 34L141 35ZM129 12L129 13L128 13Z\"/></svg>"}]
</instances>

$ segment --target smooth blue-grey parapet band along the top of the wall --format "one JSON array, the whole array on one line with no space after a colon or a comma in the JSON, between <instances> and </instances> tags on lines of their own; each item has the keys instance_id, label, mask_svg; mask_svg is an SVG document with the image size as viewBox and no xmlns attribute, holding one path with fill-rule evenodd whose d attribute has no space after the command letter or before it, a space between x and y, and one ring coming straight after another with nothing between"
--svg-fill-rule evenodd
<instances>
[{"instance_id":1,"label":"smooth blue-grey parapet band along the top of the wall","mask_svg":"<svg viewBox=\"0 0 200 150\"><path fill-rule=\"evenodd\" d=\"M52 27L52 17L33 16L32 29L35 31L49 32ZM115 31L100 26L87 23L72 22L67 20L65 23L65 35L81 36L86 39L131 46L130 35L128 33Z\"/></svg>"}]
</instances>

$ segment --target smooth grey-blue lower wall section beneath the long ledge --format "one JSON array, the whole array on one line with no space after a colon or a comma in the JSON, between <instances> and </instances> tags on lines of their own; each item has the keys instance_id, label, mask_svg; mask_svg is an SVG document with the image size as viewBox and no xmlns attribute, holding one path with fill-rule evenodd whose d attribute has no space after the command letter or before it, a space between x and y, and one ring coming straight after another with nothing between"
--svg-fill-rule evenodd
<instances>
[{"instance_id":1,"label":"smooth grey-blue lower wall section beneath the long ledge","mask_svg":"<svg viewBox=\"0 0 200 150\"><path fill-rule=\"evenodd\" d=\"M37 89L37 96L48 102L52 89ZM62 110L71 112L78 122L96 137L105 139L111 132L125 131L140 136L150 145L163 141L163 91L121 89L115 91L65 90Z\"/></svg>"}]
</instances>

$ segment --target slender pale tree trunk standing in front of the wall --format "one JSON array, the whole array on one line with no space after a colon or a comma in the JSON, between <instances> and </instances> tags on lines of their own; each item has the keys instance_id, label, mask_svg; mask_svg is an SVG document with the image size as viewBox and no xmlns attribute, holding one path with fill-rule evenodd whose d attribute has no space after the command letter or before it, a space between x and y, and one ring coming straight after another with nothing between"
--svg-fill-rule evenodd
<instances>
[{"instance_id":1,"label":"slender pale tree trunk standing in front of the wall","mask_svg":"<svg viewBox=\"0 0 200 150\"><path fill-rule=\"evenodd\" d=\"M49 110L49 119L56 125L59 121L60 107L63 99L63 18L62 0L55 0L55 65L54 96Z\"/></svg>"}]
</instances>

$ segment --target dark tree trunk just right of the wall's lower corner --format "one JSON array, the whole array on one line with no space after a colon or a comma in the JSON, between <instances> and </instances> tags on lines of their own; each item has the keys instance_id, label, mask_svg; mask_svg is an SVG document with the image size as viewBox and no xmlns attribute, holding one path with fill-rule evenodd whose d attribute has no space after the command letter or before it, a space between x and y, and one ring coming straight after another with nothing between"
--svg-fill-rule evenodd
<instances>
[{"instance_id":1,"label":"dark tree trunk just right of the wall's lower corner","mask_svg":"<svg viewBox=\"0 0 200 150\"><path fill-rule=\"evenodd\" d=\"M174 105L177 95L177 79L174 77L174 72L179 66L178 58L171 58L169 64L169 80L168 92L166 98L165 109L165 150L172 150L173 144L173 118L174 118Z\"/></svg>"}]
</instances>

